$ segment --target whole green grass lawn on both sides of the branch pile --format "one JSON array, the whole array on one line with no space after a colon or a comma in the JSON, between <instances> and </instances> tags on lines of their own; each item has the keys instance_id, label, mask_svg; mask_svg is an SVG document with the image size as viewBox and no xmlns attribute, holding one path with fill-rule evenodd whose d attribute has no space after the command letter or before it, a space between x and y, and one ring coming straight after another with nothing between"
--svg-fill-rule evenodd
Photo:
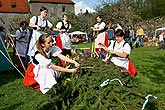
<instances>
[{"instance_id":1,"label":"whole green grass lawn on both sides of the branch pile","mask_svg":"<svg viewBox=\"0 0 165 110\"><path fill-rule=\"evenodd\" d=\"M76 47L91 47L82 43ZM165 51L158 47L132 49L131 60L135 64L143 91L157 96L165 103ZM31 87L22 85L23 78L16 71L0 73L0 110L35 110L42 101L50 99L50 94L41 94Z\"/></svg>"}]
</instances>

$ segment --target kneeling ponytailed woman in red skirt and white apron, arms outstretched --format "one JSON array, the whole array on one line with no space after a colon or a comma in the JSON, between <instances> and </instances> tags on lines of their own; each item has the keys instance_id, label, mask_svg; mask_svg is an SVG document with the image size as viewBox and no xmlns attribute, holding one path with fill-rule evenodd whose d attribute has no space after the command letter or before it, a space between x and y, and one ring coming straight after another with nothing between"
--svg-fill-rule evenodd
<instances>
[{"instance_id":1,"label":"kneeling ponytailed woman in red skirt and white apron, arms outstretched","mask_svg":"<svg viewBox=\"0 0 165 110\"><path fill-rule=\"evenodd\" d=\"M52 38L48 34L43 34L39 37L32 63L28 66L23 84L32 86L37 91L43 94L48 92L53 85L57 83L56 79L60 76L59 71L75 73L77 68L66 69L55 65L51 62L50 56L57 56L60 59L79 66L74 60L67 58L61 54L61 49L57 46L52 46Z\"/></svg>"}]
</instances>

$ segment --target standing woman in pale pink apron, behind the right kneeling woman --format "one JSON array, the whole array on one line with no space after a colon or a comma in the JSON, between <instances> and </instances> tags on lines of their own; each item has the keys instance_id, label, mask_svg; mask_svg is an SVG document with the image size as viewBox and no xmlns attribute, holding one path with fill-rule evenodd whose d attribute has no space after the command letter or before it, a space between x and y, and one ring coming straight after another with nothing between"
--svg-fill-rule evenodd
<instances>
[{"instance_id":1,"label":"standing woman in pale pink apron, behind the right kneeling woman","mask_svg":"<svg viewBox=\"0 0 165 110\"><path fill-rule=\"evenodd\" d=\"M95 39L95 51L99 50L99 43L104 44L106 47L108 47L108 34L106 32L106 24L103 22L103 18L101 15L97 16L97 23L94 25L94 27L91 27L91 29L94 32L98 32L97 38Z\"/></svg>"}]
</instances>

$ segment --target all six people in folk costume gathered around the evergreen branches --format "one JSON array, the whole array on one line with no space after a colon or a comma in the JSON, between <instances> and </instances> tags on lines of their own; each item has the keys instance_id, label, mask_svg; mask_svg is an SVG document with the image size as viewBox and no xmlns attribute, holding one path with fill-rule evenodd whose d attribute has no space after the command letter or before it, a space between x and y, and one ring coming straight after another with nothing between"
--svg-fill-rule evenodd
<instances>
[{"instance_id":1,"label":"all six people in folk costume gathered around the evergreen branches","mask_svg":"<svg viewBox=\"0 0 165 110\"><path fill-rule=\"evenodd\" d=\"M62 20L53 28L53 25L46 19L47 13L48 10L42 7L40 9L40 15L33 16L30 19L29 26L33 28L32 32L26 28L28 24L24 21L21 22L20 29L16 31L16 48L18 54L20 52L30 57L30 64L27 67L23 84L25 86L33 86L43 94L48 92L57 83L57 79L60 77L60 71L75 73L80 66L79 63L65 56L67 54L71 55L71 41L68 35L71 24L68 21L67 14L64 14ZM46 28L59 32L59 35L56 37L56 46L53 44L52 37L44 32ZM106 24L100 15L97 16L97 23L91 29L97 35L95 39L95 51L100 51L99 45L103 44L107 47L104 51L114 55L111 58L111 62L129 70L130 60L128 56L131 52L131 47L124 40L125 33L123 29L114 30L114 37L108 37ZM23 38L24 40L22 40ZM109 43L108 40L113 41ZM26 46L21 47L21 45ZM28 48L28 51L25 51L25 48ZM58 66L52 62L51 57L58 57L62 64L65 62L73 63L75 68L67 69L64 65Z\"/></svg>"}]
</instances>

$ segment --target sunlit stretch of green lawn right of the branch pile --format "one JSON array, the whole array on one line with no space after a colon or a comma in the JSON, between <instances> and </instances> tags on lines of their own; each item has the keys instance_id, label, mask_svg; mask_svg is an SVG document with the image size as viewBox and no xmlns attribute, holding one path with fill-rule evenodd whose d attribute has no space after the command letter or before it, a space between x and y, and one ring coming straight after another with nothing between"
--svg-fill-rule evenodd
<instances>
[{"instance_id":1,"label":"sunlit stretch of green lawn right of the branch pile","mask_svg":"<svg viewBox=\"0 0 165 110\"><path fill-rule=\"evenodd\" d=\"M131 59L137 67L137 78L143 90L165 102L165 51L158 47L133 49Z\"/></svg>"}]
</instances>

